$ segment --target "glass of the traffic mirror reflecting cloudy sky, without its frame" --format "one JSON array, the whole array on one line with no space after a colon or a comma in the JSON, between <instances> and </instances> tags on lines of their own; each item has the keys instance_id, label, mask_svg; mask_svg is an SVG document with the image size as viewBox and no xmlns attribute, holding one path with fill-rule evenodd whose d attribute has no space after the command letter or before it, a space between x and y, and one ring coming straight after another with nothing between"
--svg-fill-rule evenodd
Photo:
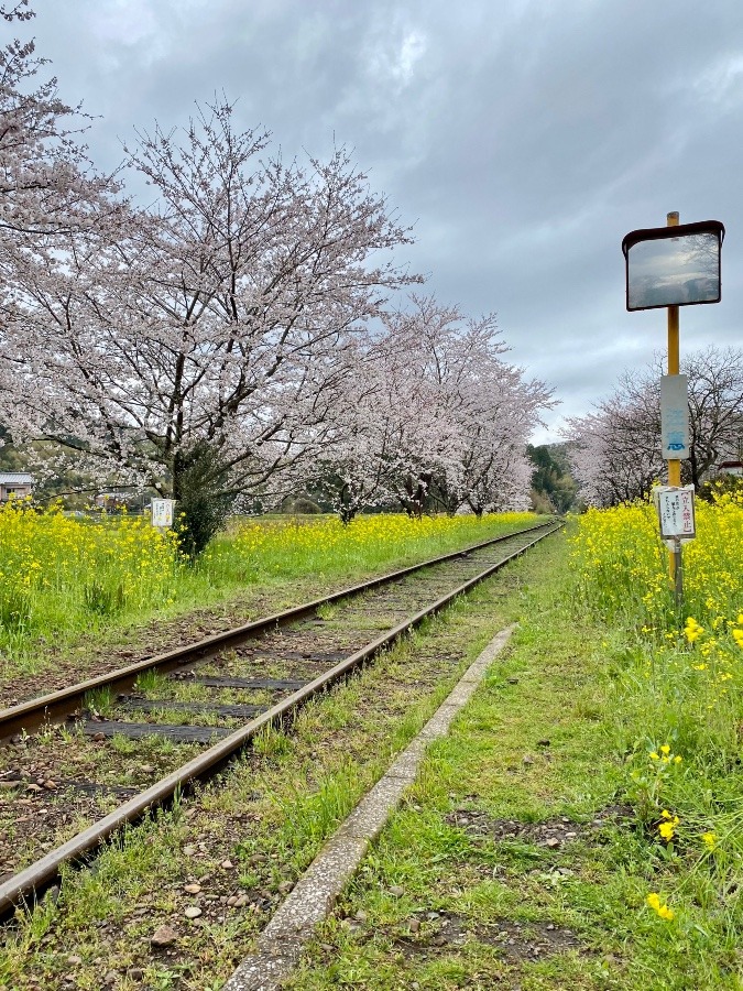
<instances>
[{"instance_id":1,"label":"glass of the traffic mirror reflecting cloudy sky, without its frame","mask_svg":"<svg viewBox=\"0 0 743 991\"><path fill-rule=\"evenodd\" d=\"M713 303L720 296L717 235L640 241L629 252L630 308Z\"/></svg>"}]
</instances>

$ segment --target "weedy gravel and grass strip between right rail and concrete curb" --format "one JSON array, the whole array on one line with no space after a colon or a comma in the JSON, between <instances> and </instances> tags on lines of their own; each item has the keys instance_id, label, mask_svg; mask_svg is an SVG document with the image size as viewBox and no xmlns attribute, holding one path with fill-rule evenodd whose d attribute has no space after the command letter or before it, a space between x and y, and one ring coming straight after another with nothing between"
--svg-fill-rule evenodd
<instances>
[{"instance_id":1,"label":"weedy gravel and grass strip between right rail and concrete curb","mask_svg":"<svg viewBox=\"0 0 743 991\"><path fill-rule=\"evenodd\" d=\"M7 934L0 989L216 991L327 836L516 618L543 548L307 706L291 731L264 733L220 787L129 829L94 871L66 872L56 902Z\"/></svg>"}]
</instances>

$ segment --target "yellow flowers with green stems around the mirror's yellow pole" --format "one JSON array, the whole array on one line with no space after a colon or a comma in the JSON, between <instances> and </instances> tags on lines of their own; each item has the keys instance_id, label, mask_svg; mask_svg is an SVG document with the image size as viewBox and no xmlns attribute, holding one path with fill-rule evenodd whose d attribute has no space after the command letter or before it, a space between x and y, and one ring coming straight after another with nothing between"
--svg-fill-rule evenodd
<instances>
[{"instance_id":1,"label":"yellow flowers with green stems around the mirror's yellow pole","mask_svg":"<svg viewBox=\"0 0 743 991\"><path fill-rule=\"evenodd\" d=\"M667 868L647 904L668 923L674 904L700 905L741 932L743 497L698 501L679 608L652 504L589 511L572 565L605 631L626 796Z\"/></svg>"}]
</instances>

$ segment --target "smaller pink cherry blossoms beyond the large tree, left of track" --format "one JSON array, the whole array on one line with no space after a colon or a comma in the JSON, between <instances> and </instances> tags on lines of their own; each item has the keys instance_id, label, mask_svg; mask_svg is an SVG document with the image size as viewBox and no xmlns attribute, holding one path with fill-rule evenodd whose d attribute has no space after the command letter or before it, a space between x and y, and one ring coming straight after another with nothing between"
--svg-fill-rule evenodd
<instances>
[{"instance_id":1,"label":"smaller pink cherry blossoms beyond the large tree, left of track","mask_svg":"<svg viewBox=\"0 0 743 991\"><path fill-rule=\"evenodd\" d=\"M550 394L501 359L494 317L414 296L384 323L369 367L347 379L347 427L324 464L341 519L374 502L411 515L527 505L526 440Z\"/></svg>"}]
</instances>

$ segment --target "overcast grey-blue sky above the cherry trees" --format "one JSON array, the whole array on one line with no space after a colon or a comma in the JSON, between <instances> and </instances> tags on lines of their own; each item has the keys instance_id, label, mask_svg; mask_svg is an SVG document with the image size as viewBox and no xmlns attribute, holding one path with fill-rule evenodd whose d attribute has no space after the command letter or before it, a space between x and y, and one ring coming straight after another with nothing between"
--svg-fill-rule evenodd
<instances>
[{"instance_id":1,"label":"overcast grey-blue sky above the cherry trees","mask_svg":"<svg viewBox=\"0 0 743 991\"><path fill-rule=\"evenodd\" d=\"M416 243L401 261L512 359L590 410L665 347L626 313L622 237L722 220L722 302L681 311L681 352L741 342L740 0L35 0L59 95L100 115L108 168L134 128L182 124L216 90L286 157L354 150ZM7 28L0 30L9 31Z\"/></svg>"}]
</instances>

